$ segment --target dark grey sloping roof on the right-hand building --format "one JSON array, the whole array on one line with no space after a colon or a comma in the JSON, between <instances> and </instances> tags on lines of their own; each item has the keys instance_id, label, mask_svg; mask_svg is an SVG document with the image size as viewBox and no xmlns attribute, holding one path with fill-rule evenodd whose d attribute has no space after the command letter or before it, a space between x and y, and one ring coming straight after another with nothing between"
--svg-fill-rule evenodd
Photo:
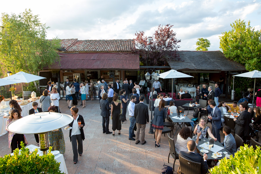
<instances>
[{"instance_id":1,"label":"dark grey sloping roof on the right-hand building","mask_svg":"<svg viewBox=\"0 0 261 174\"><path fill-rule=\"evenodd\" d=\"M244 71L246 68L227 59L221 51L177 51L180 61L168 60L174 70Z\"/></svg>"}]
</instances>

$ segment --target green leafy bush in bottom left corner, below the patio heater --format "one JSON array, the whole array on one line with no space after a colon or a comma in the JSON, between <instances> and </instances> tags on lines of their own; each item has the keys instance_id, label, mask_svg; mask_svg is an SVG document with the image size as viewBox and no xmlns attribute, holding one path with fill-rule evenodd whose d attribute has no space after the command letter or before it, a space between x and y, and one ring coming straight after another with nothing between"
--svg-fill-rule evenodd
<instances>
[{"instance_id":1,"label":"green leafy bush in bottom left corner, below the patio heater","mask_svg":"<svg viewBox=\"0 0 261 174\"><path fill-rule=\"evenodd\" d=\"M38 150L29 152L29 149L21 143L21 151L14 150L14 155L5 155L0 157L0 174L35 174L35 173L61 173L60 163L54 159L54 155L49 149L47 155L39 156Z\"/></svg>"}]
</instances>

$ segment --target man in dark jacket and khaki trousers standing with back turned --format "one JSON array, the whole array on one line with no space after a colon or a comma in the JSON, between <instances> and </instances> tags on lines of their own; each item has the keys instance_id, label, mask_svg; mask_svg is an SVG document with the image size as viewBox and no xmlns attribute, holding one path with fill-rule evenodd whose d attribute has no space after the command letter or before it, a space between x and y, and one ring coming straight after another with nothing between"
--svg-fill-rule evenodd
<instances>
[{"instance_id":1,"label":"man in dark jacket and khaki trousers standing with back turned","mask_svg":"<svg viewBox=\"0 0 261 174\"><path fill-rule=\"evenodd\" d=\"M139 132L141 129L141 132L142 132L141 140L142 140L142 145L143 145L146 143L145 128L146 128L146 124L148 124L148 122L149 122L149 117L148 117L148 106L143 103L144 96L140 96L139 101L140 101L139 104L136 104L134 107L134 118L136 119L136 126L137 126L135 144L138 144L140 142L139 141ZM131 140L133 140L133 139L131 139Z\"/></svg>"}]
</instances>

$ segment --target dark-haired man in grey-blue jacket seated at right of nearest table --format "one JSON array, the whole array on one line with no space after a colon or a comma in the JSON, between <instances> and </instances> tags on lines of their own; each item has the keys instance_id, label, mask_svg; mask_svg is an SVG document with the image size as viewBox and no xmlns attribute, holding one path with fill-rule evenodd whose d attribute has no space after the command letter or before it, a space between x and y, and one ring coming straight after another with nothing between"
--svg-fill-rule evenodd
<instances>
[{"instance_id":1,"label":"dark-haired man in grey-blue jacket seated at right of nearest table","mask_svg":"<svg viewBox=\"0 0 261 174\"><path fill-rule=\"evenodd\" d=\"M221 144L234 156L237 151L237 145L235 138L231 134L231 128L229 126L223 126L223 133L225 134L225 139Z\"/></svg>"}]
</instances>

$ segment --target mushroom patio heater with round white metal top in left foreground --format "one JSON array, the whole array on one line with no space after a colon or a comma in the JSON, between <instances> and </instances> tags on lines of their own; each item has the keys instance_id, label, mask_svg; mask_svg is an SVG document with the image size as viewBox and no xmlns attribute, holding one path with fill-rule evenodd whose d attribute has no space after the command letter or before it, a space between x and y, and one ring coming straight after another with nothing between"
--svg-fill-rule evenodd
<instances>
[{"instance_id":1,"label":"mushroom patio heater with round white metal top in left foreground","mask_svg":"<svg viewBox=\"0 0 261 174\"><path fill-rule=\"evenodd\" d=\"M49 149L48 132L67 126L73 117L67 114L42 112L28 115L7 125L7 130L19 134L39 134L43 155Z\"/></svg>"}]
</instances>

